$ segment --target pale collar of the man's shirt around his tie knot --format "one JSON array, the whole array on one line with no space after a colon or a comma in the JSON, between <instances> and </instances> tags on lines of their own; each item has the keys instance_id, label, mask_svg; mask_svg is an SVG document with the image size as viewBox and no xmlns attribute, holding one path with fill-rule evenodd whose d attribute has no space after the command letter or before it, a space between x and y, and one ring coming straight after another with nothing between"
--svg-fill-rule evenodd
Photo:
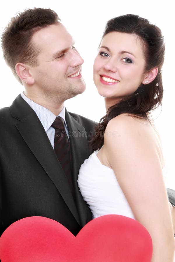
<instances>
[{"instance_id":1,"label":"pale collar of the man's shirt around his tie knot","mask_svg":"<svg viewBox=\"0 0 175 262\"><path fill-rule=\"evenodd\" d=\"M41 124L43 125L44 130L47 132L50 126L53 124L56 116L47 108L38 105L31 99L29 99L24 93L21 93L22 98L27 102L27 104L35 111L36 115L38 116ZM67 128L66 119L65 119L65 106L63 107L62 111L58 115L63 118L64 123Z\"/></svg>"}]
</instances>

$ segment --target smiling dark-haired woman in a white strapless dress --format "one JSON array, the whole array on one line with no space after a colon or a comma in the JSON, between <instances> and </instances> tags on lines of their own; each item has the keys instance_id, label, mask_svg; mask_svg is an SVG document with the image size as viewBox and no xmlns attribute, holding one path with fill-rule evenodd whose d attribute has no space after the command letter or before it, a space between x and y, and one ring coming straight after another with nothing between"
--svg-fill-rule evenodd
<instances>
[{"instance_id":1,"label":"smiling dark-haired woman in a white strapless dress","mask_svg":"<svg viewBox=\"0 0 175 262\"><path fill-rule=\"evenodd\" d=\"M159 136L148 114L161 105L164 42L160 29L138 15L107 22L94 62L94 82L105 98L78 185L93 217L118 214L151 235L151 262L172 262L174 234ZM167 216L167 214L169 214Z\"/></svg>"}]
</instances>

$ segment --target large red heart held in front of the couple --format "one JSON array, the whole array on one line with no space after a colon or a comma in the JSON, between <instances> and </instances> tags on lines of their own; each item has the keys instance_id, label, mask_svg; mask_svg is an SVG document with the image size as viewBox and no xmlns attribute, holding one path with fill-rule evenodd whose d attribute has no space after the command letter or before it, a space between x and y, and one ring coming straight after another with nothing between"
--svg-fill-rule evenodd
<instances>
[{"instance_id":1,"label":"large red heart held in front of the couple","mask_svg":"<svg viewBox=\"0 0 175 262\"><path fill-rule=\"evenodd\" d=\"M0 238L1 262L150 262L151 257L148 231L120 215L93 219L76 237L55 220L26 217Z\"/></svg>"}]
</instances>

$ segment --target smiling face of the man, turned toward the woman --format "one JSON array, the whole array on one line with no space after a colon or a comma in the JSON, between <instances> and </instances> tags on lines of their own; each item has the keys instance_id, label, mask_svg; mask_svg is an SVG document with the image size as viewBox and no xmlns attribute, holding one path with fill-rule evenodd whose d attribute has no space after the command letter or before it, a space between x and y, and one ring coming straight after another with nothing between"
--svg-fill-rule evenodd
<instances>
[{"instance_id":1,"label":"smiling face of the man, turned toward the woman","mask_svg":"<svg viewBox=\"0 0 175 262\"><path fill-rule=\"evenodd\" d=\"M30 68L35 79L35 95L61 102L83 93L84 60L66 28L60 22L46 26L34 33L31 41L40 50L38 65Z\"/></svg>"}]
</instances>

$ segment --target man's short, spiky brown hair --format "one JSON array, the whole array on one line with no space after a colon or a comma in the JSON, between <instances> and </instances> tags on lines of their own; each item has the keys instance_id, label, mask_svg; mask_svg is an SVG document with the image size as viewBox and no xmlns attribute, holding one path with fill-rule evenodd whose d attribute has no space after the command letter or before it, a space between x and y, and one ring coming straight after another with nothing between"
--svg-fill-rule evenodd
<instances>
[{"instance_id":1,"label":"man's short, spiky brown hair","mask_svg":"<svg viewBox=\"0 0 175 262\"><path fill-rule=\"evenodd\" d=\"M31 42L33 34L50 24L56 24L58 21L60 18L53 10L34 8L18 13L6 26L1 37L3 56L20 83L22 83L21 79L15 70L16 63L37 65L37 56L40 50Z\"/></svg>"}]
</instances>

